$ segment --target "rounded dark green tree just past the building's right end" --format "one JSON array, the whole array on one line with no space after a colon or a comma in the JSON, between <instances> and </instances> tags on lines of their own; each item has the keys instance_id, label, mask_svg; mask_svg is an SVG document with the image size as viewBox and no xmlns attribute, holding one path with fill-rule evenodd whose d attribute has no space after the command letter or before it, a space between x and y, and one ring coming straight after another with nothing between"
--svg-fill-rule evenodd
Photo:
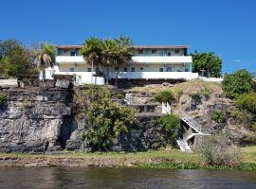
<instances>
[{"instance_id":1,"label":"rounded dark green tree just past the building's right end","mask_svg":"<svg viewBox=\"0 0 256 189\"><path fill-rule=\"evenodd\" d=\"M204 77L219 77L221 67L222 60L214 53L197 53L195 51L192 54L192 72L202 73Z\"/></svg>"}]
</instances>

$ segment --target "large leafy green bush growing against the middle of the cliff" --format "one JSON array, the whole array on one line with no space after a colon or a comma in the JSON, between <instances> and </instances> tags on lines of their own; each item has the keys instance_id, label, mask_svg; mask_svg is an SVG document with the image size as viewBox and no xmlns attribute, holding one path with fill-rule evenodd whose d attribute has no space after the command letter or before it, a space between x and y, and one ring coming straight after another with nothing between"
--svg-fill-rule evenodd
<instances>
[{"instance_id":1,"label":"large leafy green bush growing against the middle of the cliff","mask_svg":"<svg viewBox=\"0 0 256 189\"><path fill-rule=\"evenodd\" d=\"M135 112L113 103L109 98L93 102L87 112L83 139L93 150L107 150L113 140L137 123Z\"/></svg>"}]
</instances>

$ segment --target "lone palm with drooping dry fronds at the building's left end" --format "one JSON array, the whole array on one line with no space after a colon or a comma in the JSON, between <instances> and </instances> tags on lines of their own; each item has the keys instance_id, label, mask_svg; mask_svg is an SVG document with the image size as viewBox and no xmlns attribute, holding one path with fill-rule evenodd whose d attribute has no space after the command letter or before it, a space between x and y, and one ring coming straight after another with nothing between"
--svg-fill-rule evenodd
<instances>
[{"instance_id":1,"label":"lone palm with drooping dry fronds at the building's left end","mask_svg":"<svg viewBox=\"0 0 256 189\"><path fill-rule=\"evenodd\" d=\"M55 63L55 47L51 44L42 43L37 53L37 66L43 72L43 82L46 81L46 68L53 67Z\"/></svg>"}]
</instances>

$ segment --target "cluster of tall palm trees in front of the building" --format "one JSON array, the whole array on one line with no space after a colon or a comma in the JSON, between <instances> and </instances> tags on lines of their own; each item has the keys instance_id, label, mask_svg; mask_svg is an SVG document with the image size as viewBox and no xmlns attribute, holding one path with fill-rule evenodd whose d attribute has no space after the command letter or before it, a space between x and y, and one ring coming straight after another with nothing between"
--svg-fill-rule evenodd
<instances>
[{"instance_id":1,"label":"cluster of tall palm trees in front of the building","mask_svg":"<svg viewBox=\"0 0 256 189\"><path fill-rule=\"evenodd\" d=\"M132 41L128 37L120 36L119 39L101 40L99 38L89 38L83 43L80 51L84 60L96 67L97 75L105 75L109 78L109 68L115 67L117 71L115 86L117 86L119 68L127 61L132 60L134 49ZM100 66L107 69L107 73L102 73Z\"/></svg>"}]
</instances>

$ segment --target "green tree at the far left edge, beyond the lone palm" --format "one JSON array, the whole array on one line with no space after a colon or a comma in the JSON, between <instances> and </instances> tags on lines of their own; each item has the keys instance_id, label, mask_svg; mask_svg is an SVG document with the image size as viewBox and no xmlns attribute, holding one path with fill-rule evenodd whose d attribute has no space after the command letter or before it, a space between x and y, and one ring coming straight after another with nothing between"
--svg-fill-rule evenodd
<instances>
[{"instance_id":1,"label":"green tree at the far left edge, beyond the lone palm","mask_svg":"<svg viewBox=\"0 0 256 189\"><path fill-rule=\"evenodd\" d=\"M29 77L35 67L29 50L19 41L0 41L0 77Z\"/></svg>"}]
</instances>

